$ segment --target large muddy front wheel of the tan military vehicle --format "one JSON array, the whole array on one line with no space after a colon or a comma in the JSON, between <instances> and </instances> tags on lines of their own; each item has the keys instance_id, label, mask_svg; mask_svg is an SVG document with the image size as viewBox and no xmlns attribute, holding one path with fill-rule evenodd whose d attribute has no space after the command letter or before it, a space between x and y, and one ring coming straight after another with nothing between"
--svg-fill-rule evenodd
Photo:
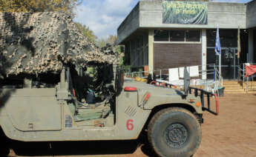
<instances>
[{"instance_id":1,"label":"large muddy front wheel of the tan military vehicle","mask_svg":"<svg viewBox=\"0 0 256 157\"><path fill-rule=\"evenodd\" d=\"M160 110L148 124L148 140L158 156L193 156L201 138L199 121L183 108Z\"/></svg>"}]
</instances>

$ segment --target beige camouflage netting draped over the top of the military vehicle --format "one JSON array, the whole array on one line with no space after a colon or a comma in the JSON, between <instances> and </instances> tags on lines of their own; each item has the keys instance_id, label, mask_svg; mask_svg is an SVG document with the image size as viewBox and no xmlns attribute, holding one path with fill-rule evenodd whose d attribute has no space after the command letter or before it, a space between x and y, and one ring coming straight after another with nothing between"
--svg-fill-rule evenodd
<instances>
[{"instance_id":1,"label":"beige camouflage netting draped over the top of the military vehicle","mask_svg":"<svg viewBox=\"0 0 256 157\"><path fill-rule=\"evenodd\" d=\"M0 13L0 73L37 75L63 64L116 64L82 35L65 13Z\"/></svg>"}]
</instances>

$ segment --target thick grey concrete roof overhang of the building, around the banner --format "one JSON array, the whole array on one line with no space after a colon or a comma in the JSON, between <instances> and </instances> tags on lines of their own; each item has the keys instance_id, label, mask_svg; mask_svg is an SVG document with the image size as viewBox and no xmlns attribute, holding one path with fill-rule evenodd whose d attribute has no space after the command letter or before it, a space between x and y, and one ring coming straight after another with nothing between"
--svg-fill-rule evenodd
<instances>
[{"instance_id":1,"label":"thick grey concrete roof overhang of the building, around the banner","mask_svg":"<svg viewBox=\"0 0 256 157\"><path fill-rule=\"evenodd\" d=\"M220 29L256 27L256 12L253 9L256 8L256 0L248 3L251 7L250 12L246 10L248 4L209 2L209 24L163 24L161 4L161 1L140 1L120 24L117 43L124 44L136 35L138 36L137 33L143 30L216 29L217 25ZM218 9L214 9L216 7ZM250 13L250 15L247 13ZM248 21L249 17L254 17L250 18L250 23ZM126 27L126 30L123 29L124 27Z\"/></svg>"}]
</instances>

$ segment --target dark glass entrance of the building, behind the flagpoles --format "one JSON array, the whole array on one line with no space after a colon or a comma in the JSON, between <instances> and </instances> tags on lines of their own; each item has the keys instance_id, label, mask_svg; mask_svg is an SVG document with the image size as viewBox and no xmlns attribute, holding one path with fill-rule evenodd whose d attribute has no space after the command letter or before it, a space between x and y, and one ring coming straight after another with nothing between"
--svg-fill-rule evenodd
<instances>
[{"instance_id":1,"label":"dark glass entrance of the building, behind the flagpoles","mask_svg":"<svg viewBox=\"0 0 256 157\"><path fill-rule=\"evenodd\" d=\"M237 66L246 60L248 33L240 31L241 53L237 59L237 30L220 30L221 71L223 79L234 80L238 77ZM246 38L247 37L247 38ZM215 53L216 30L207 30L207 64L216 64L218 68L219 56ZM212 67L207 67L211 70ZM211 76L213 79L213 76Z\"/></svg>"}]
</instances>

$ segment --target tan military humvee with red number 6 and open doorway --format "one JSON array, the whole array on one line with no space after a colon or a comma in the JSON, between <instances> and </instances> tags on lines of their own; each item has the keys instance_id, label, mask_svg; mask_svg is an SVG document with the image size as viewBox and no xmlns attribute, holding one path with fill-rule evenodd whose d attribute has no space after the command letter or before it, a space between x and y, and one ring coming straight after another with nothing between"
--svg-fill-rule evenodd
<instances>
[{"instance_id":1,"label":"tan military humvee with red number 6 and open doorway","mask_svg":"<svg viewBox=\"0 0 256 157\"><path fill-rule=\"evenodd\" d=\"M89 92L72 67L62 68L56 86L24 81L1 87L4 134L18 141L95 141L137 139L145 131L159 156L194 154L203 110L214 113L204 105L212 93L188 84L180 91L131 81L113 66L101 70L98 89Z\"/></svg>"}]
</instances>

